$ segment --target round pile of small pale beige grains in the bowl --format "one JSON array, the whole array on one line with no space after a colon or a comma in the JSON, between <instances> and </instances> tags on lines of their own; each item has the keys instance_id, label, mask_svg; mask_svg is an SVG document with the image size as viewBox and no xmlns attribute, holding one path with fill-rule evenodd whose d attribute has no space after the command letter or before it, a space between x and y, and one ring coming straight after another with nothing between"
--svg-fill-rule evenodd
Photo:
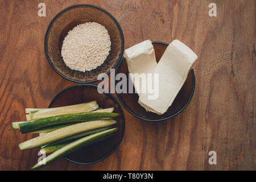
<instances>
[{"instance_id":1,"label":"round pile of small pale beige grains in the bowl","mask_svg":"<svg viewBox=\"0 0 256 182\"><path fill-rule=\"evenodd\" d=\"M68 32L61 56L69 68L91 71L104 63L110 46L110 36L104 26L96 22L83 23Z\"/></svg>"}]
</instances>

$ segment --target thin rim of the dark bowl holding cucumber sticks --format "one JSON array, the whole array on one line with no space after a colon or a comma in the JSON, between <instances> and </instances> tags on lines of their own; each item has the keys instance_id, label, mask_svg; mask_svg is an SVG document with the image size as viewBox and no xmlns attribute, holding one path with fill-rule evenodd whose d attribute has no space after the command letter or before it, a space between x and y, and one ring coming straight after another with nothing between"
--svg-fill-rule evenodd
<instances>
[{"instance_id":1,"label":"thin rim of the dark bowl holding cucumber sticks","mask_svg":"<svg viewBox=\"0 0 256 182\"><path fill-rule=\"evenodd\" d=\"M117 148L119 147L120 143L122 142L123 140L123 135L125 134L125 114L123 113L123 109L122 109L122 106L119 104L117 98L115 98L113 96L112 93L109 93L107 90L105 90L104 88L101 88L100 86L97 86L97 85L92 85L92 84L76 84L76 85L71 85L71 86L68 86L67 88L61 90L59 93L57 93L57 95L52 99L51 103L49 104L48 107L51 107L51 105L53 104L53 102L56 100L57 97L60 96L60 94L62 94L63 92L65 92L66 90L68 89L71 89L73 87L76 87L76 86L93 86L93 87L96 87L96 88L100 88L102 90L104 90L104 94L109 94L112 98L114 98L114 101L118 104L118 107L122 113L122 119L123 119L123 132L122 132L122 135L121 135L121 138L119 140L119 142L117 143L117 146L114 147L114 149L106 156L104 156L103 158L99 159L99 160L96 160L94 162L89 162L89 163L80 163L80 162L76 162L76 161L73 161L71 159L68 159L66 156L64 156L63 158L68 160L69 162L72 162L72 163L76 163L76 164L94 164L94 163L98 163L98 162L101 162L102 160L108 158L111 154L113 154L113 152L115 150L117 150Z\"/></svg>"}]
</instances>

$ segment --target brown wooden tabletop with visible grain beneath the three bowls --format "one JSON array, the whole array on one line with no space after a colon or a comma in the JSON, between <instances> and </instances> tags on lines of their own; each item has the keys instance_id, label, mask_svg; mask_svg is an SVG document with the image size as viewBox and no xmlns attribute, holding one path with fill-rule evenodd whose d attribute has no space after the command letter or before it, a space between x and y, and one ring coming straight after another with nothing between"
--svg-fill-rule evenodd
<instances>
[{"instance_id":1,"label":"brown wooden tabletop with visible grain beneath the three bowls","mask_svg":"<svg viewBox=\"0 0 256 182\"><path fill-rule=\"evenodd\" d=\"M38 16L40 2L46 17ZM211 2L216 17L208 14ZM44 170L255 170L255 0L1 1L0 170L30 169L39 157L37 148L18 147L36 135L22 135L10 123L25 120L26 107L47 107L75 84L49 65L44 35L57 13L79 3L109 11L122 27L125 48L146 39L179 39L191 47L199 57L195 94L166 122L145 122L124 109L125 136L102 162L59 159ZM216 165L208 163L209 151L216 151Z\"/></svg>"}]
</instances>

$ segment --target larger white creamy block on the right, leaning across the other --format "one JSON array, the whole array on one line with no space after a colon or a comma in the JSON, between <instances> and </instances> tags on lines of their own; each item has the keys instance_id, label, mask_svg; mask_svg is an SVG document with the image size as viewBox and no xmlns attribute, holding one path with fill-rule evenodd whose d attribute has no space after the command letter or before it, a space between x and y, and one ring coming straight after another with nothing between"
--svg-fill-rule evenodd
<instances>
[{"instance_id":1,"label":"larger white creamy block on the right, leaning across the other","mask_svg":"<svg viewBox=\"0 0 256 182\"><path fill-rule=\"evenodd\" d=\"M150 94L142 93L139 104L147 111L164 114L174 102L196 59L195 52L179 40L174 40L164 51L154 71L159 74L158 98L150 100Z\"/></svg>"}]
</instances>

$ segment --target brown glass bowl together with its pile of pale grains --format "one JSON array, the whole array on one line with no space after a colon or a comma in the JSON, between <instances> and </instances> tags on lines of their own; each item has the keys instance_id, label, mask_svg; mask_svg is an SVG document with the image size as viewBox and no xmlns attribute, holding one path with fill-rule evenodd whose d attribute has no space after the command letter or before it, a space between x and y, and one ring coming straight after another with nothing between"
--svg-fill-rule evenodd
<instances>
[{"instance_id":1,"label":"brown glass bowl together with its pile of pale grains","mask_svg":"<svg viewBox=\"0 0 256 182\"><path fill-rule=\"evenodd\" d=\"M108 11L75 5L52 19L44 48L59 75L73 82L93 82L108 75L121 60L123 34Z\"/></svg>"}]
</instances>

